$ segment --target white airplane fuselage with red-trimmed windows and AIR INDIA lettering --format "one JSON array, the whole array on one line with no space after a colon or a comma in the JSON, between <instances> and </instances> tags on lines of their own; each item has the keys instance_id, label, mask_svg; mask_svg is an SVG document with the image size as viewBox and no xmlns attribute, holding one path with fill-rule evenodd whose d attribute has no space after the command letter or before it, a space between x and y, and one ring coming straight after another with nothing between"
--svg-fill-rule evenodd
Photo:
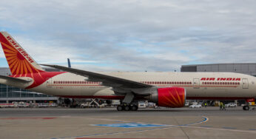
<instances>
[{"instance_id":1,"label":"white airplane fuselage with red-trimmed windows and AIR INDIA lettering","mask_svg":"<svg viewBox=\"0 0 256 139\"><path fill-rule=\"evenodd\" d=\"M101 72L157 87L183 87L188 99L256 98L256 78L232 72ZM32 88L35 92L70 98L116 96L110 87L86 82L84 76L62 73ZM24 87L25 88L25 87Z\"/></svg>"}]
</instances>

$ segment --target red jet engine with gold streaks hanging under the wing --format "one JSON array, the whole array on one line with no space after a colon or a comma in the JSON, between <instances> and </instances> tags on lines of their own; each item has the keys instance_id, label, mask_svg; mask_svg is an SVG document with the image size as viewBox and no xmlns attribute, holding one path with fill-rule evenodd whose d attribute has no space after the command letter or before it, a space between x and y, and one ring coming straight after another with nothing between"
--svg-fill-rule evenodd
<instances>
[{"instance_id":1,"label":"red jet engine with gold streaks hanging under the wing","mask_svg":"<svg viewBox=\"0 0 256 139\"><path fill-rule=\"evenodd\" d=\"M186 101L186 89L180 87L158 88L157 92L147 98L158 104L158 106L183 107Z\"/></svg>"}]
</instances>

